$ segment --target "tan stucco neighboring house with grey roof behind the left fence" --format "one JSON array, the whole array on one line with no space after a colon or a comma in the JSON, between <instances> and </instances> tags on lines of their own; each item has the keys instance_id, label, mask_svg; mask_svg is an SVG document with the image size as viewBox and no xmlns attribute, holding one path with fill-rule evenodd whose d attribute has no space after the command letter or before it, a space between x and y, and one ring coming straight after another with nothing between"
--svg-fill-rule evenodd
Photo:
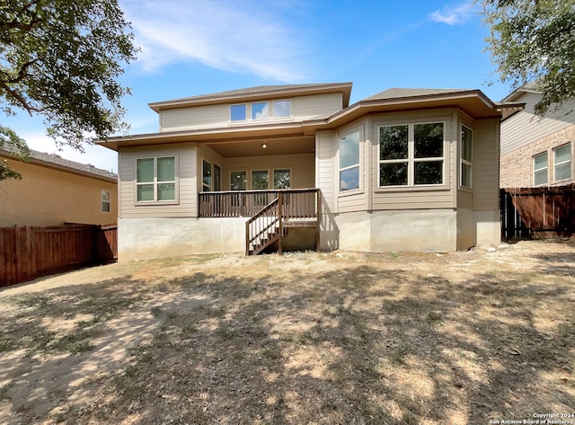
<instances>
[{"instance_id":1,"label":"tan stucco neighboring house with grey roof behind the left fence","mask_svg":"<svg viewBox=\"0 0 575 425\"><path fill-rule=\"evenodd\" d=\"M0 227L116 223L115 173L33 150L28 162L3 150L0 159L22 174L22 180L0 182Z\"/></svg>"}]
</instances>

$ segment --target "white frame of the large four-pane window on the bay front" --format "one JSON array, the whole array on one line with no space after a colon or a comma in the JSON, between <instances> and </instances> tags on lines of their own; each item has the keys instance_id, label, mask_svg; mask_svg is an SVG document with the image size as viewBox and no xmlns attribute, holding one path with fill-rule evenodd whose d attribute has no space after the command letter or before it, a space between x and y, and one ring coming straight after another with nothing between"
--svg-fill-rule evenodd
<instances>
[{"instance_id":1,"label":"white frame of the large four-pane window on the bay front","mask_svg":"<svg viewBox=\"0 0 575 425\"><path fill-rule=\"evenodd\" d=\"M438 157L426 157L426 158L416 158L415 157L415 126L426 125L426 124L441 124L443 126L443 156ZM407 126L407 158L403 159L380 159L381 158L381 141L379 140L379 135L381 128L385 127L404 127ZM445 120L429 120L429 121L410 121L410 122L397 122L382 124L377 126L377 189L378 190L398 190L398 189L437 189L445 188L446 182L446 163L447 163L447 122ZM415 164L417 163L429 163L429 162L442 162L441 170L441 183L433 184L415 184ZM407 184L401 185L389 185L381 186L381 164L399 164L407 163Z\"/></svg>"}]
</instances>

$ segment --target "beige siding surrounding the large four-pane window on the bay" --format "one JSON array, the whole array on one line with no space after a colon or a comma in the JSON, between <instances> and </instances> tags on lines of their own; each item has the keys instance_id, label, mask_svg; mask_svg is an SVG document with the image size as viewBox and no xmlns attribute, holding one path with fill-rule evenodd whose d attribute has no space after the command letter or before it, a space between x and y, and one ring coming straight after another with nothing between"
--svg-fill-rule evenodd
<instances>
[{"instance_id":1,"label":"beige siding surrounding the large four-pane window on the bay","mask_svg":"<svg viewBox=\"0 0 575 425\"><path fill-rule=\"evenodd\" d=\"M385 125L416 124L424 122L445 123L445 186L416 188L379 188L379 151L378 128ZM373 200L372 209L423 209L423 208L455 208L456 171L455 161L458 130L454 120L453 110L416 111L402 114L375 116L371 126L372 144L372 179ZM455 163L455 164L454 164Z\"/></svg>"}]
</instances>

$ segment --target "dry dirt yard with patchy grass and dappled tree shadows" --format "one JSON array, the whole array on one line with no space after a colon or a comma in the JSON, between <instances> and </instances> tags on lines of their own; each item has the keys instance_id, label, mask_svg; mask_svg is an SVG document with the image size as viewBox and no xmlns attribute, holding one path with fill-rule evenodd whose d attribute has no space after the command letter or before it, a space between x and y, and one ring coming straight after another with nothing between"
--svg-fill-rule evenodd
<instances>
[{"instance_id":1,"label":"dry dirt yard with patchy grass and dappled tree shadows","mask_svg":"<svg viewBox=\"0 0 575 425\"><path fill-rule=\"evenodd\" d=\"M79 270L0 290L0 424L575 423L574 306L573 240Z\"/></svg>"}]
</instances>

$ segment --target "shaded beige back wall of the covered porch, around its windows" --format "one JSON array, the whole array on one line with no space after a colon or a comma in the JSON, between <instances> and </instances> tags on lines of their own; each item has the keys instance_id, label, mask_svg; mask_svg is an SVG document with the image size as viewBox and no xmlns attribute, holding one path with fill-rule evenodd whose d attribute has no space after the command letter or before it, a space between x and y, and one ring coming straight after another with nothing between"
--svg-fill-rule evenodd
<instances>
[{"instance_id":1,"label":"shaded beige back wall of the covered porch, around its windows","mask_svg":"<svg viewBox=\"0 0 575 425\"><path fill-rule=\"evenodd\" d=\"M252 189L252 171L269 170L270 189L273 184L274 169L291 170L292 189L313 188L315 184L314 154L270 155L270 156L243 156L239 158L226 158L224 175L222 176L222 190L230 190L230 172L247 171L247 188Z\"/></svg>"}]
</instances>

